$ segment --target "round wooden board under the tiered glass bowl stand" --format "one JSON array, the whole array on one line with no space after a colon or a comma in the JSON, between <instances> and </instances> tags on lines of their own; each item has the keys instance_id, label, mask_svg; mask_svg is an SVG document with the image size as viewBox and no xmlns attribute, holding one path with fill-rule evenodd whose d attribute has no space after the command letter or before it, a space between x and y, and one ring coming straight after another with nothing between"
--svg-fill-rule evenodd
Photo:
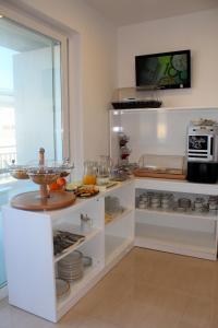
<instances>
[{"instance_id":1,"label":"round wooden board under the tiered glass bowl stand","mask_svg":"<svg viewBox=\"0 0 218 328\"><path fill-rule=\"evenodd\" d=\"M26 211L52 211L66 208L75 202L76 196L68 191L52 191L50 197L43 201L39 191L29 191L16 195L11 200L11 206Z\"/></svg>"}]
</instances>

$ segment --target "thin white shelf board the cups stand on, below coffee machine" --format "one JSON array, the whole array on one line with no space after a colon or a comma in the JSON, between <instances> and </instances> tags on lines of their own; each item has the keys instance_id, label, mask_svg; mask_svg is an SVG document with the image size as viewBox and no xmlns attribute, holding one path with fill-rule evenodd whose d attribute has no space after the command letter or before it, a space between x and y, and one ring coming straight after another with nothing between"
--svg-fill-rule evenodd
<instances>
[{"instance_id":1,"label":"thin white shelf board the cups stand on, below coffee machine","mask_svg":"<svg viewBox=\"0 0 218 328\"><path fill-rule=\"evenodd\" d=\"M137 214L152 214L161 218L173 218L173 219L201 219L201 220L211 220L218 221L218 215L211 215L209 213L196 213L196 212L177 212L177 211L165 211L165 210L152 210L152 209L135 209L135 213Z\"/></svg>"}]
</instances>

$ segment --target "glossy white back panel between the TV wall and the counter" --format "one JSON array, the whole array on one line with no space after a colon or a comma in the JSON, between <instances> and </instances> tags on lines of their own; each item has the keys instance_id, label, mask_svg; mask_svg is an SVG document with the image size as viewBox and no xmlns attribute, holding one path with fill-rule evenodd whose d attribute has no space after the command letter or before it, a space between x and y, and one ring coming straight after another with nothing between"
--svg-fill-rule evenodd
<instances>
[{"instance_id":1,"label":"glossy white back panel between the TV wall and the counter","mask_svg":"<svg viewBox=\"0 0 218 328\"><path fill-rule=\"evenodd\" d=\"M111 112L112 113L112 112ZM186 154L186 133L192 120L201 118L218 121L218 107L214 109L154 109L123 110L122 115L111 114L111 157L117 163L119 148L118 133L113 127L121 127L130 137L132 150L130 162L138 162L143 154L182 155Z\"/></svg>"}]
</instances>

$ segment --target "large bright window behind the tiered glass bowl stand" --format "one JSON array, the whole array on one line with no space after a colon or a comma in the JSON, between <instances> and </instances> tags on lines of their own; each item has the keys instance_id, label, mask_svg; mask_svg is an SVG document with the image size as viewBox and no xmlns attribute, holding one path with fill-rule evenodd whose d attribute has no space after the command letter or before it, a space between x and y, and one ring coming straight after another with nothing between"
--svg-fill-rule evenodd
<instances>
[{"instance_id":1,"label":"large bright window behind the tiered glass bowl stand","mask_svg":"<svg viewBox=\"0 0 218 328\"><path fill-rule=\"evenodd\" d=\"M0 17L0 206L8 197L1 179L12 160L37 161L40 147L47 160L69 156L63 138L69 121L62 97L65 49L66 38ZM0 288L5 283L1 221L0 213Z\"/></svg>"}]
</instances>

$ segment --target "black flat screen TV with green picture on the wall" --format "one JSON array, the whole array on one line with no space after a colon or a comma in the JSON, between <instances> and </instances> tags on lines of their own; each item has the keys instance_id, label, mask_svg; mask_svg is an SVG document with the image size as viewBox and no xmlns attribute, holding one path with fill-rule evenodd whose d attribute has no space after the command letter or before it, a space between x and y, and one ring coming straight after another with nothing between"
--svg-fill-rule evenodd
<instances>
[{"instance_id":1,"label":"black flat screen TV with green picture on the wall","mask_svg":"<svg viewBox=\"0 0 218 328\"><path fill-rule=\"evenodd\" d=\"M136 89L191 87L191 51L135 56Z\"/></svg>"}]
</instances>

